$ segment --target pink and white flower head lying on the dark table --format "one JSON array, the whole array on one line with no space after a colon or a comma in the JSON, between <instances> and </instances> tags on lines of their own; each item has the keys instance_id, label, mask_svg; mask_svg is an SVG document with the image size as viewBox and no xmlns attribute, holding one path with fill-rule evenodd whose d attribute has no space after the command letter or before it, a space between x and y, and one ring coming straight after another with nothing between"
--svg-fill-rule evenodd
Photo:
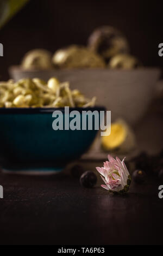
<instances>
[{"instance_id":1,"label":"pink and white flower head lying on the dark table","mask_svg":"<svg viewBox=\"0 0 163 256\"><path fill-rule=\"evenodd\" d=\"M105 185L102 188L113 193L126 193L129 189L131 177L124 163L124 159L113 158L108 155L109 161L104 162L104 167L96 167L96 170L101 174Z\"/></svg>"}]
</instances>

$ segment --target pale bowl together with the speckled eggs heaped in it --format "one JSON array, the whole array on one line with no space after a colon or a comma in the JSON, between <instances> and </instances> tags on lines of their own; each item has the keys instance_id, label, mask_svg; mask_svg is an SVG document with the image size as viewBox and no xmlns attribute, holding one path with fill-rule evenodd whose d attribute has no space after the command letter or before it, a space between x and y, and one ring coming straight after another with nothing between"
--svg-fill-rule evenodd
<instances>
[{"instance_id":1,"label":"pale bowl together with the speckled eggs heaped in it","mask_svg":"<svg viewBox=\"0 0 163 256\"><path fill-rule=\"evenodd\" d=\"M86 47L71 45L54 55L29 51L21 66L9 71L16 81L36 77L47 81L52 76L69 81L72 89L78 88L87 97L93 93L98 105L112 111L112 120L122 118L132 125L145 114L160 75L158 68L143 67L130 55L126 37L110 26L95 29Z\"/></svg>"}]
</instances>

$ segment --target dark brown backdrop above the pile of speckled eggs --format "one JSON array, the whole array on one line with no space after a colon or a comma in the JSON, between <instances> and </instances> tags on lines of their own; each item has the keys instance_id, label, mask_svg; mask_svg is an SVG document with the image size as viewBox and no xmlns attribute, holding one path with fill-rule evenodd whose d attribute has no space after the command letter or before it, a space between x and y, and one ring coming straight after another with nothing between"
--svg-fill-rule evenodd
<instances>
[{"instance_id":1,"label":"dark brown backdrop above the pile of speckled eggs","mask_svg":"<svg viewBox=\"0 0 163 256\"><path fill-rule=\"evenodd\" d=\"M93 29L111 25L129 40L131 53L145 66L163 65L158 44L163 42L161 1L31 0L0 31L4 57L0 79L8 79L8 67L19 64L34 48L52 52L68 44L86 44Z\"/></svg>"}]
</instances>

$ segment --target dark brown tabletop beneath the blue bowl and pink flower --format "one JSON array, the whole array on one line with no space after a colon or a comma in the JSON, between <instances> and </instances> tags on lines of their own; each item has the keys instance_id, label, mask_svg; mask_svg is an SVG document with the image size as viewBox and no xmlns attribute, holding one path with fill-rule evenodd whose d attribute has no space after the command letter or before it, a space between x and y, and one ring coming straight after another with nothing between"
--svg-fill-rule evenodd
<instances>
[{"instance_id":1,"label":"dark brown tabletop beneath the blue bowl and pink flower","mask_svg":"<svg viewBox=\"0 0 163 256\"><path fill-rule=\"evenodd\" d=\"M160 150L162 130L162 115L143 119L137 127L140 148ZM92 171L102 165L82 164ZM148 176L142 185L132 182L124 197L109 195L101 183L99 178L95 188L86 189L68 172L47 177L0 173L0 244L163 243L163 199L158 197L157 178Z\"/></svg>"}]
</instances>

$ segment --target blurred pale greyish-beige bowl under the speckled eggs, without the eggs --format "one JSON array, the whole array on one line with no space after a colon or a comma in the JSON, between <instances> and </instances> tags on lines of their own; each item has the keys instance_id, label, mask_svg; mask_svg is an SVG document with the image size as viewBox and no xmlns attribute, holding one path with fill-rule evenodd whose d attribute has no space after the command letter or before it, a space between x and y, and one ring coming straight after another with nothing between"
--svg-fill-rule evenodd
<instances>
[{"instance_id":1,"label":"blurred pale greyish-beige bowl under the speckled eggs, without the eggs","mask_svg":"<svg viewBox=\"0 0 163 256\"><path fill-rule=\"evenodd\" d=\"M12 79L41 78L48 80L56 76L60 81L70 81L71 88L78 88L87 97L96 96L97 104L111 110L112 121L124 118L135 124L145 114L159 79L158 68L133 70L110 69L51 69L23 70L11 67Z\"/></svg>"}]
</instances>

